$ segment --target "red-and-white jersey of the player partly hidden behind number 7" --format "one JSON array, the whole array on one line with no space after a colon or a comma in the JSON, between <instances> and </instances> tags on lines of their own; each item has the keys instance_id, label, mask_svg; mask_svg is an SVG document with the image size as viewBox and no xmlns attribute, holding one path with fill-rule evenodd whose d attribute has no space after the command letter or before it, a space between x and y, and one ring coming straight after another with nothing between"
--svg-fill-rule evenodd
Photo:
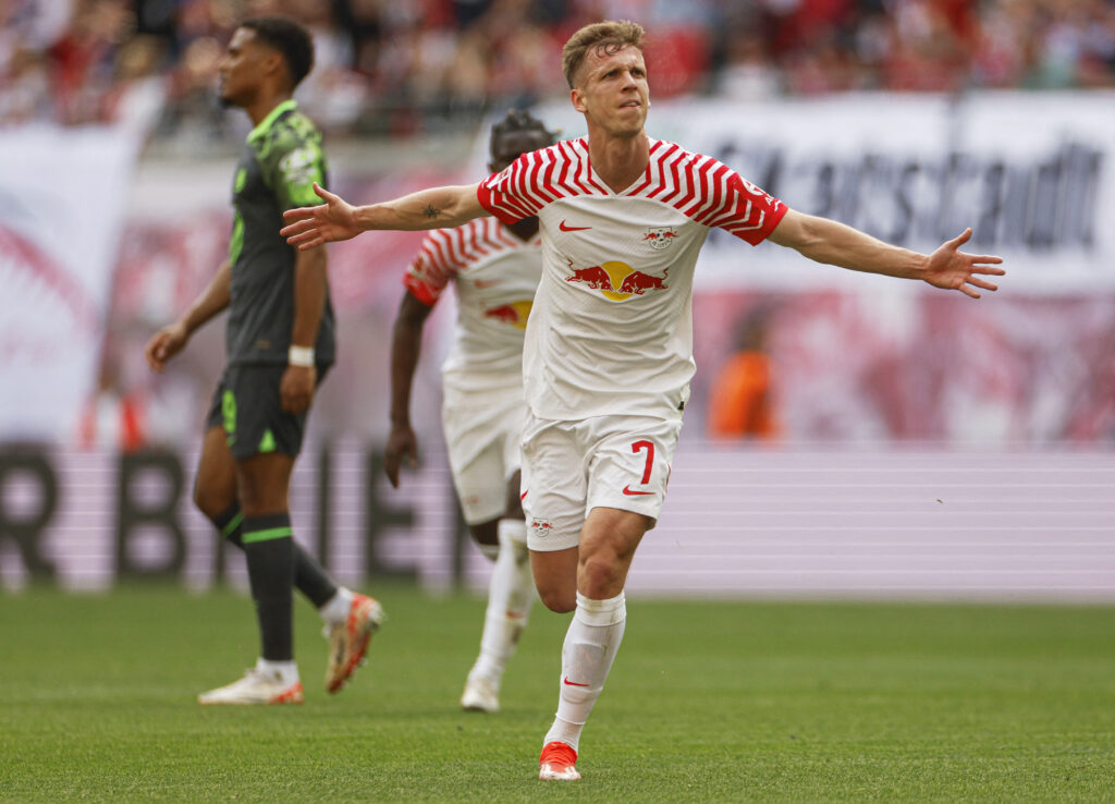
<instances>
[{"instance_id":1,"label":"red-and-white jersey of the player partly hidden behind number 7","mask_svg":"<svg viewBox=\"0 0 1115 804\"><path fill-rule=\"evenodd\" d=\"M523 333L542 275L541 238L520 240L494 217L432 231L404 284L433 306L452 281L453 346L442 365L447 398L523 382Z\"/></svg>"}]
</instances>

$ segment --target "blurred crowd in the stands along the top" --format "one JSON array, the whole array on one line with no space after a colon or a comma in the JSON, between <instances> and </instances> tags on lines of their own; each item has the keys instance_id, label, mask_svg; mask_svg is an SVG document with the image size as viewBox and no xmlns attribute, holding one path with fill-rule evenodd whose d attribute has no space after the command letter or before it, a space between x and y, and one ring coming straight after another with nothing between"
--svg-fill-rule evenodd
<instances>
[{"instance_id":1,"label":"blurred crowd in the stands along the top","mask_svg":"<svg viewBox=\"0 0 1115 804\"><path fill-rule=\"evenodd\" d=\"M312 30L299 97L357 136L560 96L562 42L600 19L647 28L656 97L1115 86L1113 0L0 0L0 124L219 137L222 48L262 13Z\"/></svg>"}]
</instances>

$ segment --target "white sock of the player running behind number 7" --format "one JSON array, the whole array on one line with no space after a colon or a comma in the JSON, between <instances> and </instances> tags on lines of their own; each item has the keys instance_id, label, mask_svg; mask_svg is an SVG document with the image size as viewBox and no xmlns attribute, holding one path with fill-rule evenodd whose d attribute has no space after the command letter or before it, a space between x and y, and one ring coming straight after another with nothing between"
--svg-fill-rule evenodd
<instances>
[{"instance_id":1,"label":"white sock of the player running behind number 7","mask_svg":"<svg viewBox=\"0 0 1115 804\"><path fill-rule=\"evenodd\" d=\"M500 555L492 568L488 604L484 613L481 655L468 671L469 679L483 678L496 689L503 668L515 652L518 637L534 603L534 575L531 574L530 551L526 549L526 523L523 520L500 520Z\"/></svg>"}]
</instances>

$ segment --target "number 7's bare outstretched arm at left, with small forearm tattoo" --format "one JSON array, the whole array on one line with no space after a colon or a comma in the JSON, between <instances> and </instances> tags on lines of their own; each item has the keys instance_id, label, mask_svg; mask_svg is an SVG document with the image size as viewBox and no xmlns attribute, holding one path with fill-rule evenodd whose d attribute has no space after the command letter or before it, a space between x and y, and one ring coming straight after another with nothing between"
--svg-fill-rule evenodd
<instances>
[{"instance_id":1,"label":"number 7's bare outstretched arm at left, with small forearm tattoo","mask_svg":"<svg viewBox=\"0 0 1115 804\"><path fill-rule=\"evenodd\" d=\"M459 226L474 217L491 214L481 206L477 187L477 184L432 187L381 204L353 206L314 183L314 192L326 203L284 212L288 225L280 234L291 245L304 250L349 240L374 229L414 232Z\"/></svg>"}]
</instances>

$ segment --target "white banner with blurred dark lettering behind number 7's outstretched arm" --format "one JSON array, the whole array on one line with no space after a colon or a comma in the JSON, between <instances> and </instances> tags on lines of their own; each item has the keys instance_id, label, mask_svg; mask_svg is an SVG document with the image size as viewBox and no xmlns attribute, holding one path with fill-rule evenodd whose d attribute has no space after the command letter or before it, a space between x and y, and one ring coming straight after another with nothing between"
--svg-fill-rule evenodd
<instances>
[{"instance_id":1,"label":"white banner with blurred dark lettering behind number 7's outstretched arm","mask_svg":"<svg viewBox=\"0 0 1115 804\"><path fill-rule=\"evenodd\" d=\"M536 112L563 137L583 118ZM655 104L647 132L714 156L792 209L931 251L1004 256L1011 293L1115 287L1115 94L840 95ZM483 134L486 147L487 134ZM481 146L477 146L477 153ZM714 231L697 288L846 287L862 278Z\"/></svg>"}]
</instances>

